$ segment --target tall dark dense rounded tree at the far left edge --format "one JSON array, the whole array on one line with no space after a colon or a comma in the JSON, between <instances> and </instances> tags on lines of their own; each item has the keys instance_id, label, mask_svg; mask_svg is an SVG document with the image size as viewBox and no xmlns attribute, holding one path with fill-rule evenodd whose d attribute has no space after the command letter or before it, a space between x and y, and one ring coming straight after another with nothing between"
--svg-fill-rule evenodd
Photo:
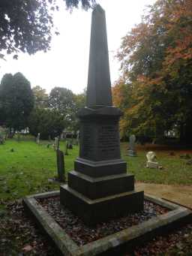
<instances>
[{"instance_id":1,"label":"tall dark dense rounded tree at the far left edge","mask_svg":"<svg viewBox=\"0 0 192 256\"><path fill-rule=\"evenodd\" d=\"M28 115L34 107L31 85L21 73L5 74L0 85L1 120L13 131L28 125Z\"/></svg>"}]
</instances>

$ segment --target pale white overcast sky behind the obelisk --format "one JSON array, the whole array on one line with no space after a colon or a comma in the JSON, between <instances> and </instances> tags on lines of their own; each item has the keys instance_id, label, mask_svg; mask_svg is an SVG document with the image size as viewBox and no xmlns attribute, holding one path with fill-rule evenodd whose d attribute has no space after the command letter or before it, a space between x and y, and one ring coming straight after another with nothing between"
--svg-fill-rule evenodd
<instances>
[{"instance_id":1,"label":"pale white overcast sky behind the obelisk","mask_svg":"<svg viewBox=\"0 0 192 256\"><path fill-rule=\"evenodd\" d=\"M62 0L60 11L55 12L55 26L60 35L52 38L48 53L34 56L20 54L18 60L7 56L1 61L0 79L5 73L21 72L31 82L31 86L41 86L47 92L55 86L66 87L74 93L83 92L87 86L89 41L92 11L65 10ZM119 63L114 58L121 38L141 21L146 5L154 0L98 0L106 11L107 37L110 53L110 74L112 83L118 79Z\"/></svg>"}]
</instances>

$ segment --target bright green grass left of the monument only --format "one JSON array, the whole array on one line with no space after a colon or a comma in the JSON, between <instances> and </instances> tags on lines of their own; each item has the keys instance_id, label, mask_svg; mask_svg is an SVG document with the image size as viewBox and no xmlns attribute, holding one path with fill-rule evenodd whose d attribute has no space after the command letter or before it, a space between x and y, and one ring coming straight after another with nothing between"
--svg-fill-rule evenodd
<instances>
[{"instance_id":1,"label":"bright green grass left of the monument only","mask_svg":"<svg viewBox=\"0 0 192 256\"><path fill-rule=\"evenodd\" d=\"M49 182L49 178L57 176L56 155L48 142L7 140L0 146L0 198L12 200L37 192L59 188L59 185ZM12 150L13 149L13 150ZM65 149L65 143L61 143ZM12 152L13 151L13 152ZM65 156L66 170L74 167L74 158L78 147L68 150Z\"/></svg>"}]
</instances>

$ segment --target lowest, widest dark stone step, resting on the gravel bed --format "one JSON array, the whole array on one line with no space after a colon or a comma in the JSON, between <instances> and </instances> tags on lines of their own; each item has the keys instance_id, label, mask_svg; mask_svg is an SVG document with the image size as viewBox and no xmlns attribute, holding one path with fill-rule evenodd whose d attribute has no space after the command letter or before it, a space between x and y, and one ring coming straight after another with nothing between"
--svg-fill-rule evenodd
<instances>
[{"instance_id":1,"label":"lowest, widest dark stone step, resting on the gravel bed","mask_svg":"<svg viewBox=\"0 0 192 256\"><path fill-rule=\"evenodd\" d=\"M142 211L144 192L128 191L100 199L89 199L68 185L60 187L61 204L80 216L86 224L94 225L110 218Z\"/></svg>"}]
</instances>

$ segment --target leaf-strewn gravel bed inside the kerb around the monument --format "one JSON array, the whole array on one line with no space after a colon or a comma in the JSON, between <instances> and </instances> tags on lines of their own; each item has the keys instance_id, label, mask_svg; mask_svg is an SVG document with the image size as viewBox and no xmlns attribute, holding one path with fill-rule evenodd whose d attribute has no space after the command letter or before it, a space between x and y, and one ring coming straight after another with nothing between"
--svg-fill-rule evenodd
<instances>
[{"instance_id":1,"label":"leaf-strewn gravel bed inside the kerb around the monument","mask_svg":"<svg viewBox=\"0 0 192 256\"><path fill-rule=\"evenodd\" d=\"M74 215L69 209L60 206L60 198L48 197L37 199L41 206L49 212L49 215L68 233L69 236L82 246L104 236L124 230L127 227L142 223L148 219L169 212L162 206L144 201L144 210L135 214L129 214L122 218L116 218L107 222L97 224L95 227L89 227L83 221Z\"/></svg>"}]
</instances>

